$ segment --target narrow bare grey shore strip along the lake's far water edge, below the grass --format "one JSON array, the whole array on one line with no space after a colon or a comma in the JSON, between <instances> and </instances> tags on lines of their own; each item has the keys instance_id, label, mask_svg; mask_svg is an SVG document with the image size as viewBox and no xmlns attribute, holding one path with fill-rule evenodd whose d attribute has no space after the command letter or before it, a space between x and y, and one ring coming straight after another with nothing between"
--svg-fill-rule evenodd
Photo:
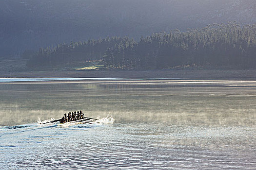
<instances>
[{"instance_id":1,"label":"narrow bare grey shore strip along the lake's far water edge, below the grass","mask_svg":"<svg viewBox=\"0 0 256 170\"><path fill-rule=\"evenodd\" d=\"M256 69L224 70L91 70L91 71L30 71L1 73L1 78L127 78L127 79L255 79Z\"/></svg>"}]
</instances>

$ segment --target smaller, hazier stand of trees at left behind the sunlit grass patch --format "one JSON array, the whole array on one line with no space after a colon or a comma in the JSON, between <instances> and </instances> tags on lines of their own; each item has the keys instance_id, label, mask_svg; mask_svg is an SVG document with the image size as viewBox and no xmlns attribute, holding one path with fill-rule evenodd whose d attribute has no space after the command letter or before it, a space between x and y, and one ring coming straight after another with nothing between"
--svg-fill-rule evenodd
<instances>
[{"instance_id":1,"label":"smaller, hazier stand of trees at left behind the sunlit grass patch","mask_svg":"<svg viewBox=\"0 0 256 170\"><path fill-rule=\"evenodd\" d=\"M100 60L106 50L116 44L129 41L128 37L107 37L90 39L86 42L60 43L55 47L40 48L27 61L30 68L38 66L56 66L74 61ZM25 58L25 57L24 57Z\"/></svg>"}]
</instances>

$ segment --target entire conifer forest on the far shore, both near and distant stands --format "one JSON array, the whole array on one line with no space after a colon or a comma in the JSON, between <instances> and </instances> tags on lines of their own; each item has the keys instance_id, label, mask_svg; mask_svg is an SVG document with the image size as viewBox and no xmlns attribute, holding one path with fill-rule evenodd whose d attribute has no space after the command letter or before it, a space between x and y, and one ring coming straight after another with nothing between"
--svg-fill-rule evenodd
<instances>
[{"instance_id":1,"label":"entire conifer forest on the far shore, both near and distant stands","mask_svg":"<svg viewBox=\"0 0 256 170\"><path fill-rule=\"evenodd\" d=\"M101 59L106 69L256 68L256 25L211 24L187 32L160 32L138 42L128 37L107 37L59 44L41 48L27 65L33 68Z\"/></svg>"}]
</instances>

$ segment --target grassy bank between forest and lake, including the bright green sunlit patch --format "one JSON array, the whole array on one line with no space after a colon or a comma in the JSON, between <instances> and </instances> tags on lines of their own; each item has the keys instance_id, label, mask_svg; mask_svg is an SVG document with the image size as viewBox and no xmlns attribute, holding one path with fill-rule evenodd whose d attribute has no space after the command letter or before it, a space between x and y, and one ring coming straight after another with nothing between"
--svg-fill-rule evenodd
<instances>
[{"instance_id":1,"label":"grassy bank between forest and lake, including the bright green sunlit patch","mask_svg":"<svg viewBox=\"0 0 256 170\"><path fill-rule=\"evenodd\" d=\"M54 68L29 70L26 60L0 61L0 77L84 77L84 78L256 78L256 69L169 69L169 70L103 70L100 61L71 63Z\"/></svg>"}]
</instances>

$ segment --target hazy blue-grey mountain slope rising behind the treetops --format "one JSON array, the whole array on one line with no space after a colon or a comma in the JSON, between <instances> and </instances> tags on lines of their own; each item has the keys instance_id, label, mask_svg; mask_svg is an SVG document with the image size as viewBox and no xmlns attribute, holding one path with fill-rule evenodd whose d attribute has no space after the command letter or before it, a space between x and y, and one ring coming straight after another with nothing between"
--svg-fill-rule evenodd
<instances>
[{"instance_id":1,"label":"hazy blue-grey mountain slope rising behind the treetops","mask_svg":"<svg viewBox=\"0 0 256 170\"><path fill-rule=\"evenodd\" d=\"M115 35L256 23L256 0L1 0L0 58Z\"/></svg>"}]
</instances>

